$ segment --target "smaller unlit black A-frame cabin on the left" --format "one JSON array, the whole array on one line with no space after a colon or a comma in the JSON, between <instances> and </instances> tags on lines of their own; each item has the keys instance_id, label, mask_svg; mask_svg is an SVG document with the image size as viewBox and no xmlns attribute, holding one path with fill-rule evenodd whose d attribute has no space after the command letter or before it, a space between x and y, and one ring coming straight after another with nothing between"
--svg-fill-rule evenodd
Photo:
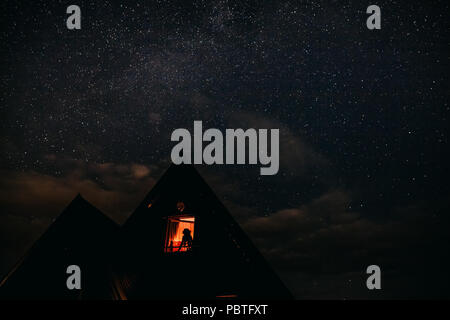
<instances>
[{"instance_id":1,"label":"smaller unlit black A-frame cabin on the left","mask_svg":"<svg viewBox=\"0 0 450 320\"><path fill-rule=\"evenodd\" d=\"M119 226L78 195L0 283L0 299L111 299L109 257ZM69 290L67 267L81 269Z\"/></svg>"}]
</instances>

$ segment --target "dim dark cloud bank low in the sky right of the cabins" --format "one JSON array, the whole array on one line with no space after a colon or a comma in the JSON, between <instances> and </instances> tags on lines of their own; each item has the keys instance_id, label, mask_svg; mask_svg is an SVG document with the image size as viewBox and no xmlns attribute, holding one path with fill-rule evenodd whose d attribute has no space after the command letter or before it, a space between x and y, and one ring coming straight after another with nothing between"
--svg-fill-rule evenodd
<instances>
[{"instance_id":1,"label":"dim dark cloud bank low in the sky right of the cabins","mask_svg":"<svg viewBox=\"0 0 450 320\"><path fill-rule=\"evenodd\" d=\"M348 191L330 190L297 208L249 217L242 226L299 298L445 295L442 274L430 263L440 257L449 266L442 252L450 240L445 223L419 205L369 217L349 210L351 199ZM387 283L378 296L364 286L371 264L381 266Z\"/></svg>"}]
</instances>

